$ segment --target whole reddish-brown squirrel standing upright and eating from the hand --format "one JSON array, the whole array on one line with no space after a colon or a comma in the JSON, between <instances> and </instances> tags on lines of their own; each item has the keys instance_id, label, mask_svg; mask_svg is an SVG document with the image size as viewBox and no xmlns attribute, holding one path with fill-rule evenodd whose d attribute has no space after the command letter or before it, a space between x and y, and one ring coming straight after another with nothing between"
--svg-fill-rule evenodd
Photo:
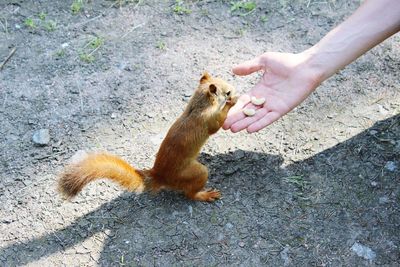
<instances>
[{"instance_id":1,"label":"whole reddish-brown squirrel standing upright and eating from the hand","mask_svg":"<svg viewBox=\"0 0 400 267\"><path fill-rule=\"evenodd\" d=\"M137 194L169 189L195 201L219 199L218 190L204 188L208 169L197 157L209 136L221 128L237 99L233 86L205 72L186 109L161 143L151 169L137 170L107 153L87 154L65 168L58 183L60 193L70 199L89 182L108 178Z\"/></svg>"}]
</instances>

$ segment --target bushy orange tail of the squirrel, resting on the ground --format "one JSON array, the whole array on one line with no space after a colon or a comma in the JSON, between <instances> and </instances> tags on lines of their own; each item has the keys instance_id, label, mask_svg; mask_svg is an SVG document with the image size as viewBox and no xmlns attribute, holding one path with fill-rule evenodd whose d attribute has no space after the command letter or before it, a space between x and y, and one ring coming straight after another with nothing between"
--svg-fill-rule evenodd
<instances>
[{"instance_id":1,"label":"bushy orange tail of the squirrel, resting on the ground","mask_svg":"<svg viewBox=\"0 0 400 267\"><path fill-rule=\"evenodd\" d=\"M65 168L58 189L66 198L76 196L96 179L107 178L129 191L140 194L145 189L144 174L117 156L106 153L86 154L83 159Z\"/></svg>"}]
</instances>

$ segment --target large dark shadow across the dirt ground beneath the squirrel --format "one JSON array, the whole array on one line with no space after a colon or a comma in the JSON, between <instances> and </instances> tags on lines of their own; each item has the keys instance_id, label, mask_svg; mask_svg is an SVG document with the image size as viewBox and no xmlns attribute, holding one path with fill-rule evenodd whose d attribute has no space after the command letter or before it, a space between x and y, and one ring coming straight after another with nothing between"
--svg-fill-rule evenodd
<instances>
[{"instance_id":1,"label":"large dark shadow across the dirt ground beneath the squirrel","mask_svg":"<svg viewBox=\"0 0 400 267\"><path fill-rule=\"evenodd\" d=\"M389 200L384 210L375 201L381 194L400 195L398 180L393 183L400 166L382 175L387 162L400 162L400 144L387 141L400 140L399 128L396 115L285 167L277 155L243 150L202 153L200 161L210 170L209 186L221 190L222 200L200 203L173 192L123 193L63 229L0 248L1 265L25 265L82 246L97 234L105 236L98 264L107 266L121 261L144 266L281 265L276 253L265 251L282 251L281 244L302 248L304 240L308 246L329 241L329 246L312 252L320 253L316 257L348 249L356 239L390 239L399 244L396 202ZM260 244L262 250L256 248ZM249 250L255 251L250 258ZM83 248L77 253L90 252ZM382 253L388 257L378 258L381 263L400 259L398 250ZM359 263L358 258L351 259L350 264Z\"/></svg>"}]
</instances>

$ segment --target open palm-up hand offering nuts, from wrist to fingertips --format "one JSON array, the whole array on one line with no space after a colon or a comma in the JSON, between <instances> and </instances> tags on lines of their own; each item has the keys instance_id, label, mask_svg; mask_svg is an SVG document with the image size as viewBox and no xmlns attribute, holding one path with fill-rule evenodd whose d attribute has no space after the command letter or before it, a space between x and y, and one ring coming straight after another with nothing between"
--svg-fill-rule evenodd
<instances>
[{"instance_id":1,"label":"open palm-up hand offering nuts, from wrist to fingertips","mask_svg":"<svg viewBox=\"0 0 400 267\"><path fill-rule=\"evenodd\" d=\"M247 93L240 96L237 104L229 111L223 128L238 132L257 132L273 123L297 105L319 85L320 79L313 68L307 66L308 55L289 53L265 53L253 60L233 68L237 75L248 75L264 70L261 80ZM264 97L265 103L254 106L251 97ZM252 117L243 114L244 108L257 112Z\"/></svg>"}]
</instances>

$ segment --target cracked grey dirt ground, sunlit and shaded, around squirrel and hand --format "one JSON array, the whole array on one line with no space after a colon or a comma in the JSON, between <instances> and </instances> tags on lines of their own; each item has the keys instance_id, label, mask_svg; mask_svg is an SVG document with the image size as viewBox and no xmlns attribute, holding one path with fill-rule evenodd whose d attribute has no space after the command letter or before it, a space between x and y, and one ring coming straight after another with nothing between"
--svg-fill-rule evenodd
<instances>
[{"instance_id":1,"label":"cracked grey dirt ground, sunlit and shaded, around squirrel and hand","mask_svg":"<svg viewBox=\"0 0 400 267\"><path fill-rule=\"evenodd\" d=\"M150 167L204 70L244 92L259 75L234 64L308 48L360 1L0 2L0 266L399 266L399 35L267 129L213 136L220 201L56 191L78 150Z\"/></svg>"}]
</instances>

